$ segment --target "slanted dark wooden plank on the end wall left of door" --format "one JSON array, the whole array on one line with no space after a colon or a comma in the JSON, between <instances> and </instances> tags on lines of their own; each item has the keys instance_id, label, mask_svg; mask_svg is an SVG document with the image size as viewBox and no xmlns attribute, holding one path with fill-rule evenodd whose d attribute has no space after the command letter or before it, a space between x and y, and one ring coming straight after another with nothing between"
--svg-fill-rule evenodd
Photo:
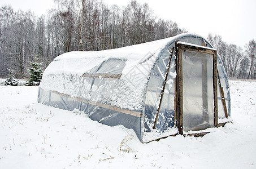
<instances>
[{"instance_id":1,"label":"slanted dark wooden plank on the end wall left of door","mask_svg":"<svg viewBox=\"0 0 256 169\"><path fill-rule=\"evenodd\" d=\"M174 51L174 47L172 47L171 55L169 57L169 61L168 61L168 65L167 65L167 70L166 70L166 74L165 74L165 79L164 79L164 82L163 82L163 88L162 88L162 92L161 92L161 96L160 96L160 102L159 102L159 105L158 105L157 114L155 116L155 121L154 121L153 129L155 129L155 127L157 126L157 119L158 119L158 115L159 115L161 104L162 104L162 100L163 100L164 90L166 88L166 82L167 82L167 78L168 78L168 74L169 74L169 70L170 70L170 66L171 66L173 51Z\"/></svg>"}]
</instances>

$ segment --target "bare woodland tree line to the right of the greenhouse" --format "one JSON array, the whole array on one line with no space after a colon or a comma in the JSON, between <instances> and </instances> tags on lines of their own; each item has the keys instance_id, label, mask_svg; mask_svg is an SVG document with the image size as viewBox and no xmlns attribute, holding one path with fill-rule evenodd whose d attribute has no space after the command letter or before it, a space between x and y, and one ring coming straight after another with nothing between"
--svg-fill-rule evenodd
<instances>
[{"instance_id":1,"label":"bare woodland tree line to the right of the greenhouse","mask_svg":"<svg viewBox=\"0 0 256 169\"><path fill-rule=\"evenodd\" d=\"M229 78L256 79L256 42L251 39L242 47L222 41L220 35L209 34L207 40L218 51Z\"/></svg>"}]
</instances>

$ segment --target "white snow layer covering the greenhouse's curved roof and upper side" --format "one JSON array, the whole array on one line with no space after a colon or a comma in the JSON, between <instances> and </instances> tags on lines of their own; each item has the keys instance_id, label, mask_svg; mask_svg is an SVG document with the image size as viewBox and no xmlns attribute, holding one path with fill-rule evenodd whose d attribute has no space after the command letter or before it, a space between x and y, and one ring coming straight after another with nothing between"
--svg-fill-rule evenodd
<instances>
[{"instance_id":1,"label":"white snow layer covering the greenhouse's curved roof and upper side","mask_svg":"<svg viewBox=\"0 0 256 169\"><path fill-rule=\"evenodd\" d=\"M150 70L153 68L164 48L171 45L177 39L184 37L200 36L185 33L158 41L112 50L67 52L56 57L47 66L40 87L45 91L57 91L61 94L98 102L101 99L98 93L103 92L104 88L108 88L106 85L110 84L97 86L98 88L95 85L92 86L86 74L90 75L90 73L94 73L93 75L96 75L98 73L98 78L102 78L102 74L109 75L108 73L112 73L112 68L115 69L113 66L119 66L114 60L110 59L125 60L122 69L118 70L121 76L114 74L115 77L120 77L120 81L118 81L119 88L116 90L112 89L112 101L109 104L129 110L141 110L144 102L145 87L149 81ZM109 68L106 71L104 70L105 72L97 72L104 61L106 61L105 67L109 66ZM87 77L86 79L88 81L84 81L85 77ZM106 81L111 83L112 80L109 79ZM117 87L116 84L115 87ZM97 97L92 98L92 93L93 96Z\"/></svg>"}]
</instances>

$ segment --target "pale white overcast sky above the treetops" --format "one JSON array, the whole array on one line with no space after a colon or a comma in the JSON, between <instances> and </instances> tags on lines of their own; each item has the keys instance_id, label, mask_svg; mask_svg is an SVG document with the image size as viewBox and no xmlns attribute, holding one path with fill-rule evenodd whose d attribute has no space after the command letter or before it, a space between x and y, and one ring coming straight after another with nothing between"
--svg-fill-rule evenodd
<instances>
[{"instance_id":1,"label":"pale white overcast sky above the treetops","mask_svg":"<svg viewBox=\"0 0 256 169\"><path fill-rule=\"evenodd\" d=\"M127 6L129 0L102 0L109 5ZM255 0L137 0L148 3L154 15L175 21L180 28L207 38L219 34L223 41L244 47L256 39ZM47 14L53 0L0 0L0 6L11 5L15 10L31 10L36 15Z\"/></svg>"}]
</instances>

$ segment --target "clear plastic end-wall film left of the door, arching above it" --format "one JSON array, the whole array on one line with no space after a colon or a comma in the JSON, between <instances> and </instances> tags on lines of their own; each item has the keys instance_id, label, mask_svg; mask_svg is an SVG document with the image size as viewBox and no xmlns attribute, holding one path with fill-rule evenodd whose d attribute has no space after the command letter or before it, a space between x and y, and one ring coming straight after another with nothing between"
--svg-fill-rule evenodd
<instances>
[{"instance_id":1,"label":"clear plastic end-wall film left of the door, arching above it","mask_svg":"<svg viewBox=\"0 0 256 169\"><path fill-rule=\"evenodd\" d=\"M145 95L145 132L159 132L164 135L164 132L168 134L174 134L177 130L173 130L175 127L175 51L173 51L173 57L171 60L170 70L168 72L166 87L164 90L162 104L159 108L160 95L163 89L164 74L167 70L168 59L170 58L170 49L175 46L175 41L181 41L186 43L192 43L194 45L202 45L203 38L197 37L197 35L185 35L170 42L169 45L159 55L159 60L154 66L147 84L147 91ZM212 86L212 84L211 84ZM159 115L157 119L157 125L153 130L154 120L156 118L157 109L159 108ZM145 133L146 134L146 133Z\"/></svg>"}]
</instances>

